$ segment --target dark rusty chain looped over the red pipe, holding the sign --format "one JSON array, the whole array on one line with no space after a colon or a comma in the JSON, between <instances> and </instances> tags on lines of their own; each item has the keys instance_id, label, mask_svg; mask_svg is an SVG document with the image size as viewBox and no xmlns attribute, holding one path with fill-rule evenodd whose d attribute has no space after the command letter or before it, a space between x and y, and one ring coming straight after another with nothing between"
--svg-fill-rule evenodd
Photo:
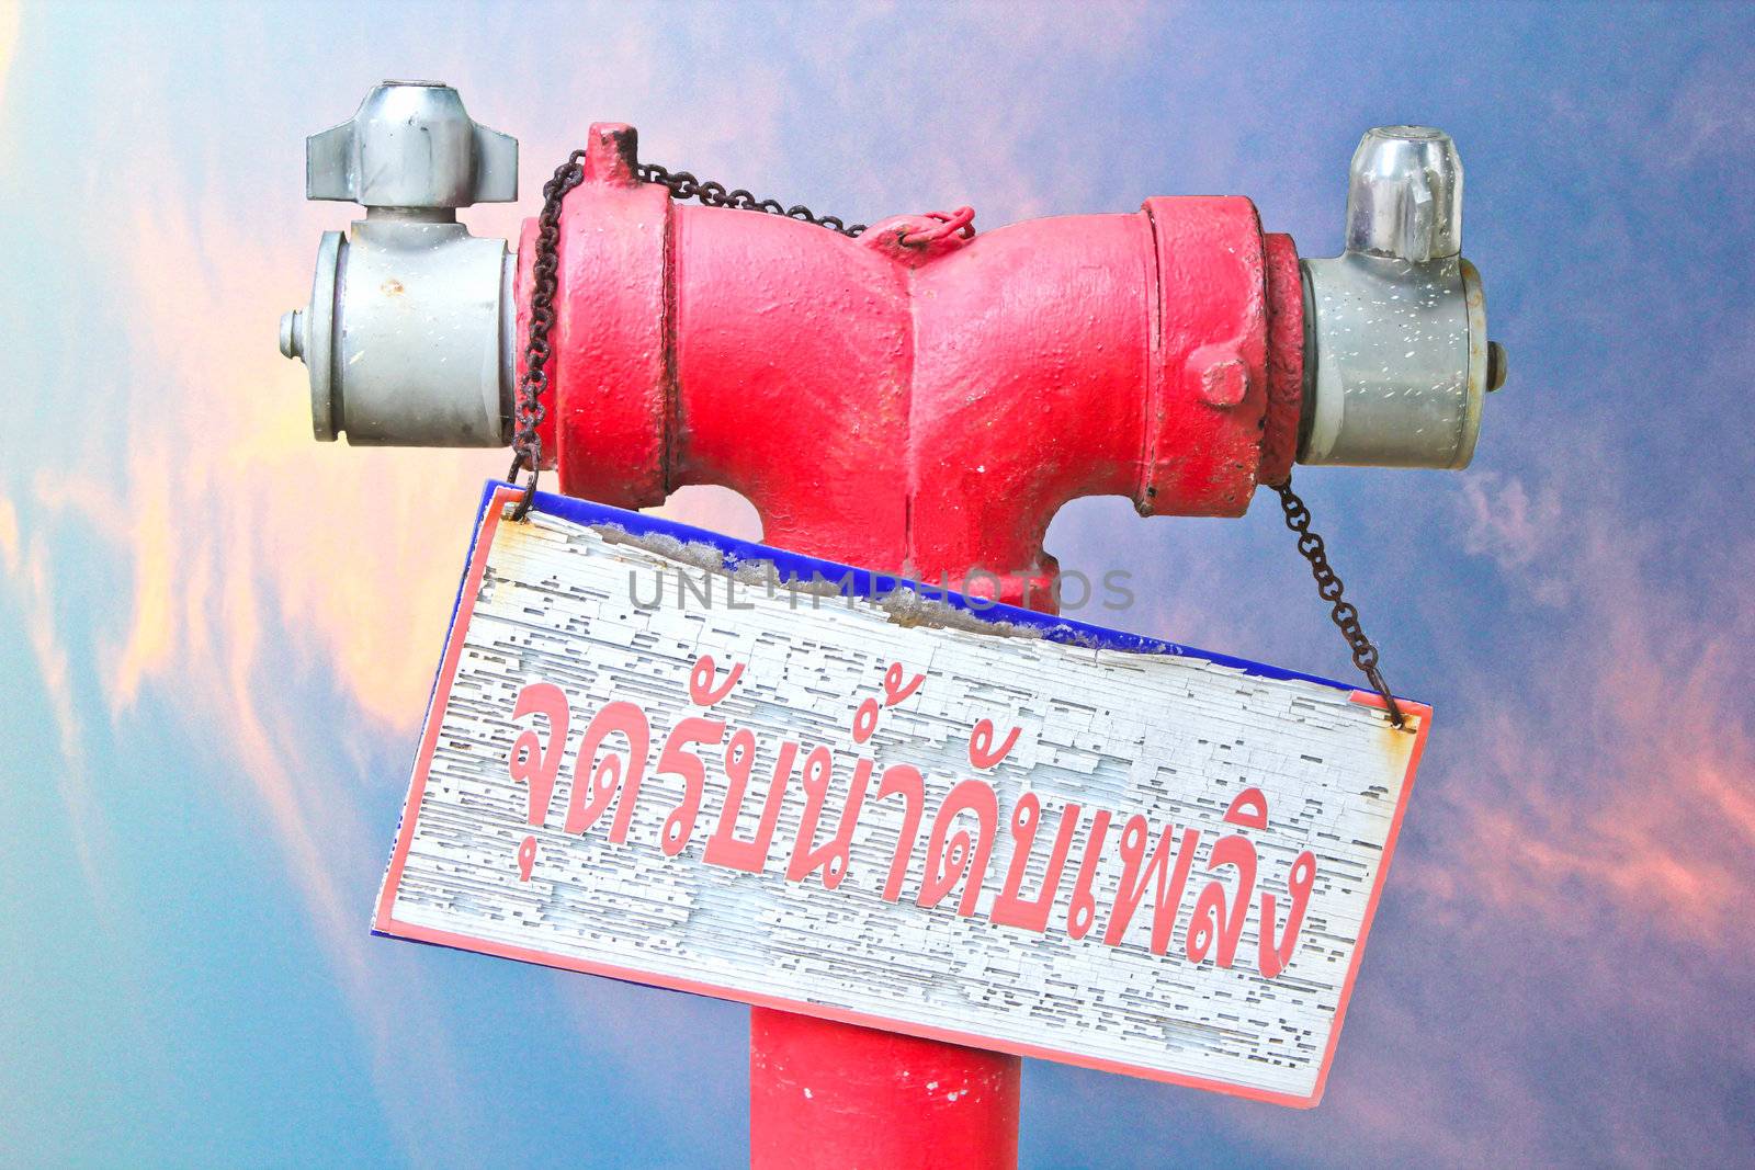
<instances>
[{"instance_id":1,"label":"dark rusty chain looped over the red pipe, holding the sign","mask_svg":"<svg viewBox=\"0 0 1755 1170\"><path fill-rule=\"evenodd\" d=\"M584 179L584 151L574 151L567 156L567 161L555 168L555 175L542 186L542 214L537 216L537 246L535 258L530 265L532 288L530 288L530 335L525 342L525 374L518 384L518 407L514 414L516 430L512 433L512 470L505 474L507 481L516 482L518 472L521 468L530 468L530 484L525 489L525 498L519 500L518 509L512 512L512 519L523 519L530 512L530 503L537 491L537 468L542 461L542 439L537 433L548 410L542 407L542 391L548 389L548 360L549 360L549 330L555 326L555 291L558 286L558 256L555 253L560 240L560 205L567 196L567 191L579 186ZM656 163L641 163L635 175L642 182L656 182L670 191L670 198L693 198L700 200L707 207L730 207L734 210L758 210L769 216L784 216L788 219L799 219L802 223L814 223L816 226L828 228L830 232L839 232L849 239L858 237L865 232L863 223L848 225L837 216L818 216L809 207L802 203L786 207L779 200L756 198L742 188L727 189L723 182L714 182L711 179L697 179L686 170L667 170ZM962 209L958 209L962 210ZM962 228L963 223L955 226ZM1383 681L1383 670L1379 668L1378 647L1372 646L1371 639L1365 637L1364 628L1358 624L1358 609L1343 600L1341 593L1344 586L1341 577L1336 575L1334 567L1329 563L1329 551L1323 546L1323 539L1311 531L1311 512L1304 505L1304 500L1292 491L1292 479L1279 484L1279 507L1286 516L1286 528L1299 535L1299 553L1311 565L1311 575L1316 579L1316 593L1322 600L1329 602L1334 609L1330 617L1334 624L1339 626L1341 637L1346 639L1348 649L1353 653L1353 665L1358 667L1360 674L1371 681L1371 686L1383 696L1383 705L1388 710L1390 723L1397 728L1408 723L1408 716L1402 714L1400 705L1395 702L1395 695L1390 693L1388 684Z\"/></svg>"}]
</instances>

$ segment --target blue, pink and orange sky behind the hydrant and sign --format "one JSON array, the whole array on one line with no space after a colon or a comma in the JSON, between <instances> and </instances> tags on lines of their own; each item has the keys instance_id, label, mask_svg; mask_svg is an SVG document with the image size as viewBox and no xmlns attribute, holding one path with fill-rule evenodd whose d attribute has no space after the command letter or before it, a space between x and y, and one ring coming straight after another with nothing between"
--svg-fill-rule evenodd
<instances>
[{"instance_id":1,"label":"blue, pink and orange sky behind the hydrant and sign","mask_svg":"<svg viewBox=\"0 0 1755 1170\"><path fill-rule=\"evenodd\" d=\"M1309 468L1437 723L1313 1112L1030 1061L1027 1166L1755 1163L1755 7L0 4L0 1163L735 1165L746 1009L372 938L497 453L311 439L304 137L439 77L849 219L1243 193L1339 251L1446 128L1511 381ZM695 493L688 519L753 535ZM1272 496L1083 500L1125 624L1346 677Z\"/></svg>"}]
</instances>

